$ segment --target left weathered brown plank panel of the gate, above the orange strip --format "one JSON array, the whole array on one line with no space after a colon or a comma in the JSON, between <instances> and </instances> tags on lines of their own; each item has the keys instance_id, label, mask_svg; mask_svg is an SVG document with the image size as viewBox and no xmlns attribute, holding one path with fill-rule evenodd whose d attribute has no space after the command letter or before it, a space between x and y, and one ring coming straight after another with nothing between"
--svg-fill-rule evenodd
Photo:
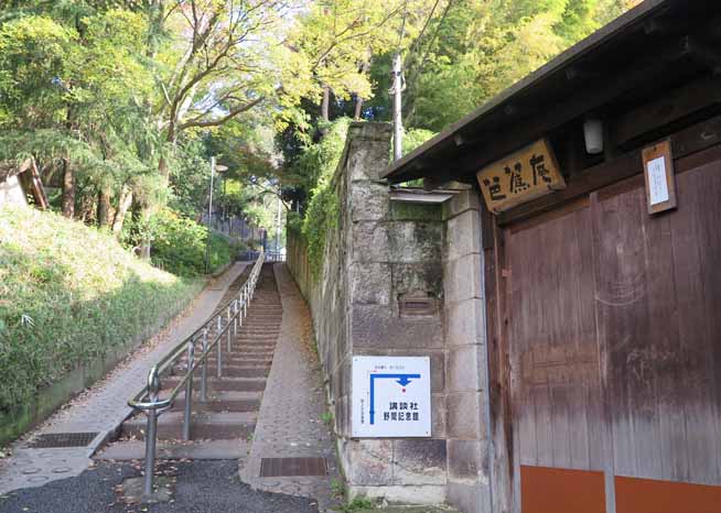
<instances>
[{"instance_id":1,"label":"left weathered brown plank panel of the gate, above the orange strip","mask_svg":"<svg viewBox=\"0 0 721 513\"><path fill-rule=\"evenodd\" d=\"M509 237L520 465L603 469L591 221L587 207Z\"/></svg>"}]
</instances>

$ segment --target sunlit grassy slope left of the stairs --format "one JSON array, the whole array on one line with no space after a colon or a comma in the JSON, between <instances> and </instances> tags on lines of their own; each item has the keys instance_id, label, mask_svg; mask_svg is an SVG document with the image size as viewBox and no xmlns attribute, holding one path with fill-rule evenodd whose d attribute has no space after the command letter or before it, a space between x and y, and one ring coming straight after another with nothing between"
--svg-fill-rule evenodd
<instances>
[{"instance_id":1,"label":"sunlit grassy slope left of the stairs","mask_svg":"<svg viewBox=\"0 0 721 513\"><path fill-rule=\"evenodd\" d=\"M0 206L0 414L138 337L198 285L139 261L108 233Z\"/></svg>"}]
</instances>

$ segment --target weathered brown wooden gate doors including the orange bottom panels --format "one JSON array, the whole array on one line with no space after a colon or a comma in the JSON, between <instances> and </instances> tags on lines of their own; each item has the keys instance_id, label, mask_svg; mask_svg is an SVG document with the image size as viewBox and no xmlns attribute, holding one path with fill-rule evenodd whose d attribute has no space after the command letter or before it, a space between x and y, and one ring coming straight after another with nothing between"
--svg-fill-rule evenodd
<instances>
[{"instance_id":1,"label":"weathered brown wooden gate doors including the orange bottom panels","mask_svg":"<svg viewBox=\"0 0 721 513\"><path fill-rule=\"evenodd\" d=\"M504 230L521 513L721 512L721 164L682 171Z\"/></svg>"}]
</instances>

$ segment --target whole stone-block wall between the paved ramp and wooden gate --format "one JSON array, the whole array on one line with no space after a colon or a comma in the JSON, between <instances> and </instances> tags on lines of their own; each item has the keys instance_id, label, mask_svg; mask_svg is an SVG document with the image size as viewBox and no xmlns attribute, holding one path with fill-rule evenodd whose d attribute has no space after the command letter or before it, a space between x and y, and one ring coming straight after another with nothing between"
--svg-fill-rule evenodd
<instances>
[{"instance_id":1,"label":"whole stone-block wall between the paved ramp and wooden gate","mask_svg":"<svg viewBox=\"0 0 721 513\"><path fill-rule=\"evenodd\" d=\"M488 479L476 196L463 192L444 206L391 201L379 179L389 144L387 124L351 125L333 178L341 218L327 233L321 271L312 275L305 248L290 232L288 265L313 314L352 492L486 511L478 505ZM433 313L406 316L402 301L418 297ZM431 438L351 437L356 354L431 358Z\"/></svg>"}]
</instances>

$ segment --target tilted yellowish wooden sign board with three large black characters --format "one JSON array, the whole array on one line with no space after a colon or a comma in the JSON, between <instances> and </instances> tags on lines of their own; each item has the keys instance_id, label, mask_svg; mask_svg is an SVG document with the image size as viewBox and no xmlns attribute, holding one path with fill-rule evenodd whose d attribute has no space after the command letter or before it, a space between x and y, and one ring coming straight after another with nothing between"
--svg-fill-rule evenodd
<instances>
[{"instance_id":1,"label":"tilted yellowish wooden sign board with three large black characters","mask_svg":"<svg viewBox=\"0 0 721 513\"><path fill-rule=\"evenodd\" d=\"M556 155L545 139L494 162L476 176L486 206L494 214L566 188Z\"/></svg>"}]
</instances>

